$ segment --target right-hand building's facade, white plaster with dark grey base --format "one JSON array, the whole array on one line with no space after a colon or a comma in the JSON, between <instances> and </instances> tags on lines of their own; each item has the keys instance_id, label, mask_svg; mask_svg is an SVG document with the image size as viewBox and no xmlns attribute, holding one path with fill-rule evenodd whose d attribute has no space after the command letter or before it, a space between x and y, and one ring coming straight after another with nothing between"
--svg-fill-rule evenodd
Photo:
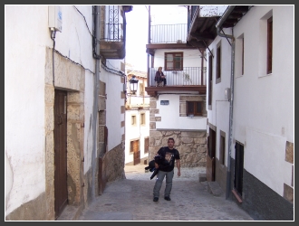
<instances>
[{"instance_id":1,"label":"right-hand building's facade, white plaster with dark grey base","mask_svg":"<svg viewBox=\"0 0 299 226\"><path fill-rule=\"evenodd\" d=\"M268 19L273 22L269 73L266 69ZM232 195L255 220L293 220L294 6L253 5L233 28L223 29L223 33L233 35L235 48L219 35L208 46L212 52L209 54L214 56L217 48L221 48L221 80L216 79L217 57L214 57L211 105L207 101L207 129L216 130L217 159L221 159L220 136L225 135L225 163L217 162L216 180L227 189L227 196ZM228 89L228 97L227 88L231 90ZM207 87L207 96L209 90ZM236 157L236 144L244 149L242 160ZM231 174L229 184L224 183L227 177L224 169ZM240 170L242 175L236 178ZM238 188L236 180L242 180Z\"/></svg>"}]
</instances>

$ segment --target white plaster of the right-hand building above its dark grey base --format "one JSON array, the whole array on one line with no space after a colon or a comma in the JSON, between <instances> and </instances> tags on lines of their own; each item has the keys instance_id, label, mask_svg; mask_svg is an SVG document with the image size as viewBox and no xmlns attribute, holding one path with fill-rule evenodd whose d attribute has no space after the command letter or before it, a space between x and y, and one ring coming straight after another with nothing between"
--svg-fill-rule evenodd
<instances>
[{"instance_id":1,"label":"white plaster of the right-hand building above its dark grey base","mask_svg":"<svg viewBox=\"0 0 299 226\"><path fill-rule=\"evenodd\" d=\"M269 14L274 18L273 72L266 75L261 70L266 65L263 57L266 46L261 40L265 39L265 19ZM280 195L284 192L282 181L291 185L292 175L292 164L285 162L285 141L294 142L294 30L290 29L294 27L293 18L292 5L257 5L234 28L234 36L244 34L245 42L245 72L243 76L236 74L235 78L234 141L245 144L246 171ZM224 32L231 33L230 29ZM213 109L208 110L207 117L217 126L217 131L224 130L228 135L229 104L221 102L222 107L218 108L217 100L224 99L225 88L229 87L231 51L227 40L219 37L209 46L210 50L216 52L219 41L221 82L215 84L214 74ZM238 51L236 48L236 54ZM234 146L231 151L235 157Z\"/></svg>"}]
</instances>

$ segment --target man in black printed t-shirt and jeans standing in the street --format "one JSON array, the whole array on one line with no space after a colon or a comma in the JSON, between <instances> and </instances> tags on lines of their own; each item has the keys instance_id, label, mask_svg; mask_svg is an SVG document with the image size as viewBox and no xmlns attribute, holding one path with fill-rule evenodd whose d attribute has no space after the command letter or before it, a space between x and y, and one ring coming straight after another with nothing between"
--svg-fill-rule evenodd
<instances>
[{"instance_id":1,"label":"man in black printed t-shirt and jeans standing in the street","mask_svg":"<svg viewBox=\"0 0 299 226\"><path fill-rule=\"evenodd\" d=\"M169 137L168 146L159 148L157 155L161 155L165 161L163 164L155 163L155 168L159 169L156 177L156 183L153 189L153 202L159 201L159 190L161 189L164 177L166 177L166 186L164 191L164 199L170 201L170 192L172 188L172 179L174 175L175 164L178 167L178 176L180 176L180 157L177 149L174 148L174 138Z\"/></svg>"}]
</instances>

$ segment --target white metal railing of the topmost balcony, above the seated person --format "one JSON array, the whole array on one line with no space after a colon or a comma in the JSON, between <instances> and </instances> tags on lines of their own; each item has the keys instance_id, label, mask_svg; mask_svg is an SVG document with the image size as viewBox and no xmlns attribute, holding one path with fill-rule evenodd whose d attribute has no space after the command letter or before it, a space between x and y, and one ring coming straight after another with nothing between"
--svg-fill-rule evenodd
<instances>
[{"instance_id":1,"label":"white metal railing of the topmost balcony, above the seated person","mask_svg":"<svg viewBox=\"0 0 299 226\"><path fill-rule=\"evenodd\" d=\"M159 24L150 26L150 43L186 43L187 24Z\"/></svg>"}]
</instances>

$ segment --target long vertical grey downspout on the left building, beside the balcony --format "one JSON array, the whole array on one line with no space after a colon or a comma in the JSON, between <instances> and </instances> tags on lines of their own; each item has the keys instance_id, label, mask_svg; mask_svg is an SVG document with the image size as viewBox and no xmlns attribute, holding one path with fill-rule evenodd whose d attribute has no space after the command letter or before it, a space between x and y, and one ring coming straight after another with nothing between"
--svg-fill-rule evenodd
<instances>
[{"instance_id":1,"label":"long vertical grey downspout on the left building, beside the balcony","mask_svg":"<svg viewBox=\"0 0 299 226\"><path fill-rule=\"evenodd\" d=\"M99 80L100 80L100 33L101 33L101 6L94 6L94 52L93 58L95 59L95 75L93 77L93 109L92 109L92 180L95 180L96 163L97 159L97 119L98 119L98 99L99 99ZM95 183L92 183L95 184ZM94 192L95 189L92 189Z\"/></svg>"}]
</instances>

